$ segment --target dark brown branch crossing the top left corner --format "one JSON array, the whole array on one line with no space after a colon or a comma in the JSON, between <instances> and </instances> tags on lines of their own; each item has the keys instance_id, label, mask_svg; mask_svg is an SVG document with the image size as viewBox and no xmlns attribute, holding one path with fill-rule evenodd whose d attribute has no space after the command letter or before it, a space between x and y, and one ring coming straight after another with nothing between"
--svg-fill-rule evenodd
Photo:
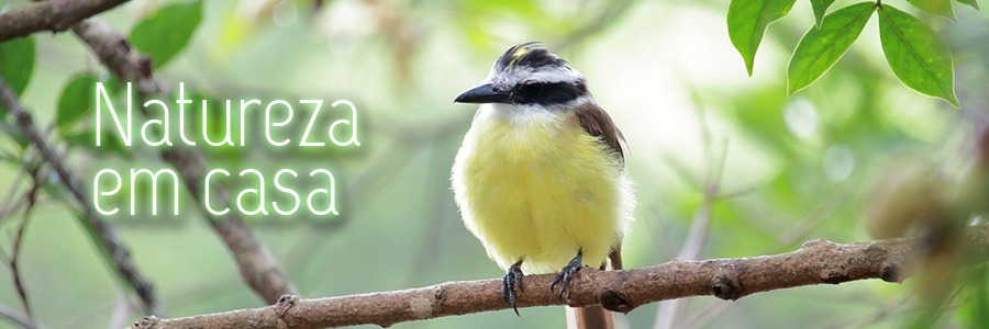
<instances>
[{"instance_id":1,"label":"dark brown branch crossing the top left corner","mask_svg":"<svg viewBox=\"0 0 989 329\"><path fill-rule=\"evenodd\" d=\"M38 31L60 32L127 0L48 0L0 13L0 43Z\"/></svg>"}]
</instances>

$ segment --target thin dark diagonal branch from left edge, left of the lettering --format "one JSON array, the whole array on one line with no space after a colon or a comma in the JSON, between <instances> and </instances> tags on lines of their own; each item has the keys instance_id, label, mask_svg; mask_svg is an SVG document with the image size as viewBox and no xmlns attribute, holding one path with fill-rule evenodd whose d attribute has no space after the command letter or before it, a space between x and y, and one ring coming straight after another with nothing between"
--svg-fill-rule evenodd
<instances>
[{"instance_id":1,"label":"thin dark diagonal branch from left edge, left of the lettering","mask_svg":"<svg viewBox=\"0 0 989 329\"><path fill-rule=\"evenodd\" d=\"M82 218L97 234L99 240L96 241L96 243L103 245L103 247L107 248L107 251L110 253L113 261L112 265L134 288L134 292L141 299L141 306L144 308L144 311L146 314L159 314L160 303L155 295L154 286L151 281L137 271L137 265L134 264L131 252L124 247L113 226L110 226L110 224L92 212L92 203L90 202L88 194L82 192L86 191L82 188L82 183L79 182L75 173L65 164L62 157L55 152L55 149L52 147L52 144L48 143L47 138L45 138L41 131L37 129L31 113L21 105L16 95L13 94L13 91L10 90L3 79L0 79L0 104L7 107L9 113L13 115L18 127L21 128L27 140L37 148L48 166L52 166L52 169L58 174L63 184L79 203L79 208L82 211Z\"/></svg>"}]
</instances>

